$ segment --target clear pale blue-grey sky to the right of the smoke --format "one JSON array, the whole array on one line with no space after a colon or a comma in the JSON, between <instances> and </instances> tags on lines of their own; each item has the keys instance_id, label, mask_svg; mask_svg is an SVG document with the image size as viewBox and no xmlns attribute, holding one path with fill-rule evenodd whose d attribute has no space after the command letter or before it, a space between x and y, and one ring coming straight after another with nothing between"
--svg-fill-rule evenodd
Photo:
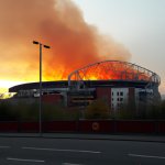
<instances>
[{"instance_id":1,"label":"clear pale blue-grey sky to the right of the smoke","mask_svg":"<svg viewBox=\"0 0 165 165\"><path fill-rule=\"evenodd\" d=\"M88 23L131 52L131 63L161 76L165 94L165 0L74 1Z\"/></svg>"}]
</instances>

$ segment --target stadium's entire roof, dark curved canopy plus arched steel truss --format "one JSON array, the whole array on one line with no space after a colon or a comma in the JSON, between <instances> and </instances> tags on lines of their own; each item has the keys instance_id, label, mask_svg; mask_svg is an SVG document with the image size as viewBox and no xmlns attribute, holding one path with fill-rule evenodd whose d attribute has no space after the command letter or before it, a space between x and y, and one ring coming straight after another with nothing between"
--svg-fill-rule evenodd
<instances>
[{"instance_id":1,"label":"stadium's entire roof, dark curved canopy plus arched steel truss","mask_svg":"<svg viewBox=\"0 0 165 165\"><path fill-rule=\"evenodd\" d=\"M59 81L43 81L43 88L68 88L97 86L130 86L130 87L158 87L161 78L157 74L138 66L135 64L119 62L119 61L105 61L94 63L82 68L74 70L68 76L67 80ZM38 82L22 84L9 89L10 92L18 92L19 90L38 89Z\"/></svg>"}]
</instances>

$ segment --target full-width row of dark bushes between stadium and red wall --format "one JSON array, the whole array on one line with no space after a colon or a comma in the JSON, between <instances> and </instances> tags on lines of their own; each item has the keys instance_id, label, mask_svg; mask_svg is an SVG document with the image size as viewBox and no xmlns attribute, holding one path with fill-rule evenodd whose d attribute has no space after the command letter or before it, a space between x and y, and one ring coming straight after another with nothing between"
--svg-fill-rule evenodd
<instances>
[{"instance_id":1,"label":"full-width row of dark bushes between stadium and red wall","mask_svg":"<svg viewBox=\"0 0 165 165\"><path fill-rule=\"evenodd\" d=\"M62 102L42 102L42 120L78 120L85 119L165 119L165 100L157 105L145 106L140 103L135 109L130 105L123 105L119 110L111 111L105 100L92 101L86 110L79 108L66 108ZM38 100L0 100L0 121L38 121Z\"/></svg>"}]
</instances>

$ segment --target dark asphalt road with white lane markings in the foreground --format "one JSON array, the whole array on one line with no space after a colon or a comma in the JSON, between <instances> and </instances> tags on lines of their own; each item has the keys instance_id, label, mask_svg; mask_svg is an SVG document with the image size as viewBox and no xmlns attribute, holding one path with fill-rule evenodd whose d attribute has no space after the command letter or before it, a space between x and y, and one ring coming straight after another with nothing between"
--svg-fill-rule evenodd
<instances>
[{"instance_id":1,"label":"dark asphalt road with white lane markings in the foreground","mask_svg":"<svg viewBox=\"0 0 165 165\"><path fill-rule=\"evenodd\" d=\"M0 165L165 165L165 143L0 138Z\"/></svg>"}]
</instances>

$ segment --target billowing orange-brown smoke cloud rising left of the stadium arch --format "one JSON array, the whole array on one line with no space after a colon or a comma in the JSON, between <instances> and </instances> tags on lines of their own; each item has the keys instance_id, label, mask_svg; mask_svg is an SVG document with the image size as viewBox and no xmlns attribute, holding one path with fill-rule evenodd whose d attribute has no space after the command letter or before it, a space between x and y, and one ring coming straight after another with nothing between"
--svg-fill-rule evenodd
<instances>
[{"instance_id":1,"label":"billowing orange-brown smoke cloud rising left of the stadium arch","mask_svg":"<svg viewBox=\"0 0 165 165\"><path fill-rule=\"evenodd\" d=\"M102 59L129 61L130 53L89 25L72 0L1 0L1 79L37 80L38 46L45 80L66 79L76 68Z\"/></svg>"}]
</instances>

